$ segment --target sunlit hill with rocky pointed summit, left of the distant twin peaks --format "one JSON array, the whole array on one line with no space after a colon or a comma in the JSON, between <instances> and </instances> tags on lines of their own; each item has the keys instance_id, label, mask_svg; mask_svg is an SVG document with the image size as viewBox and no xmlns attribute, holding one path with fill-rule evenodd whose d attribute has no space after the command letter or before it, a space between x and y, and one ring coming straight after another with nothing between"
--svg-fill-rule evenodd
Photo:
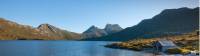
<instances>
[{"instance_id":1,"label":"sunlit hill with rocky pointed summit, left of the distant twin peaks","mask_svg":"<svg viewBox=\"0 0 200 56\"><path fill-rule=\"evenodd\" d=\"M54 39L79 39L81 37L80 34L62 30L50 24L41 24L37 29L41 34L54 37Z\"/></svg>"}]
</instances>

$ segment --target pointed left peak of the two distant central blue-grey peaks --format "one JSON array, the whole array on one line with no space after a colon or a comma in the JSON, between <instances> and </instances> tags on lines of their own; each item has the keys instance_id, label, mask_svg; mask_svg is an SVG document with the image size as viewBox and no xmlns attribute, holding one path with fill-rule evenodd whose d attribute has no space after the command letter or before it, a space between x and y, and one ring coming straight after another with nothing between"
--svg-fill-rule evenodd
<instances>
[{"instance_id":1,"label":"pointed left peak of the two distant central blue-grey peaks","mask_svg":"<svg viewBox=\"0 0 200 56\"><path fill-rule=\"evenodd\" d=\"M103 29L99 29L96 26L91 26L89 29L82 33L83 38L101 37L105 35L107 35L107 32Z\"/></svg>"}]
</instances>

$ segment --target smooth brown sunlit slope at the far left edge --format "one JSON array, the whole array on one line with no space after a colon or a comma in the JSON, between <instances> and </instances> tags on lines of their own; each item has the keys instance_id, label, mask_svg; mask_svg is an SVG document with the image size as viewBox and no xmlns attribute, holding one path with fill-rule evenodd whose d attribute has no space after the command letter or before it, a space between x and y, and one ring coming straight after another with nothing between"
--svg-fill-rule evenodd
<instances>
[{"instance_id":1,"label":"smooth brown sunlit slope at the far left edge","mask_svg":"<svg viewBox=\"0 0 200 56\"><path fill-rule=\"evenodd\" d=\"M0 18L0 40L45 39L35 28Z\"/></svg>"}]
</instances>

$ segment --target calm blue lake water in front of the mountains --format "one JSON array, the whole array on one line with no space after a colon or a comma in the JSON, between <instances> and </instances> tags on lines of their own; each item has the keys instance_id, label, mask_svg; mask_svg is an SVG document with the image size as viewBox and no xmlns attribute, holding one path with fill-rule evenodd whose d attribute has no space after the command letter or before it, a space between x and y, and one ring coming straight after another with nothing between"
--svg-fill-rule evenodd
<instances>
[{"instance_id":1,"label":"calm blue lake water in front of the mountains","mask_svg":"<svg viewBox=\"0 0 200 56\"><path fill-rule=\"evenodd\" d=\"M0 56L149 56L147 53L106 48L105 41L0 41Z\"/></svg>"}]
</instances>

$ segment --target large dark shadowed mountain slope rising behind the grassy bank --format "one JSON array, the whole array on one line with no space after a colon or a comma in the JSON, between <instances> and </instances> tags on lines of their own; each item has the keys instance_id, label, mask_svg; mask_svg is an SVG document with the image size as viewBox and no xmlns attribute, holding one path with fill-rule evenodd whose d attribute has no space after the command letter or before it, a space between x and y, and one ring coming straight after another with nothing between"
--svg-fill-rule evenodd
<instances>
[{"instance_id":1,"label":"large dark shadowed mountain slope rising behind the grassy bank","mask_svg":"<svg viewBox=\"0 0 200 56\"><path fill-rule=\"evenodd\" d=\"M86 40L125 41L135 38L150 38L184 34L199 28L199 7L166 9L151 19L128 27L118 33Z\"/></svg>"}]
</instances>

